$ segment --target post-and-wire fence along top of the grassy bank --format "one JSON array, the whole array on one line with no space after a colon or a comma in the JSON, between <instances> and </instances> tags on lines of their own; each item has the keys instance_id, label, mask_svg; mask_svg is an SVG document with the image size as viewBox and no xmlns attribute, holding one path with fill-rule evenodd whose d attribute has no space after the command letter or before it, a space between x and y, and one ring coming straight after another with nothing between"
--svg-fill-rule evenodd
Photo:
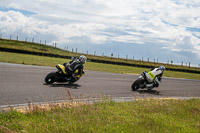
<instances>
[{"instance_id":1,"label":"post-and-wire fence along top of the grassy bank","mask_svg":"<svg viewBox=\"0 0 200 133\"><path fill-rule=\"evenodd\" d=\"M47 43L47 40L38 40L36 41L35 38L24 38L23 40L19 39L19 36L11 36L11 35L6 35L3 36L3 34L0 34L0 39L8 39L8 40L15 40L15 41L25 41L25 42L30 42L30 43L38 43L38 44L43 44L43 45L49 45L49 46L53 46L53 47L58 47L58 44L56 42L51 42L51 43ZM78 48L72 48L71 50L69 49L68 46L64 47L64 50L67 51L71 51L72 53L78 53ZM111 53L110 55L105 55L105 53L103 52L101 55L97 54L97 51L94 51L94 53L89 53L89 51L87 50L86 53L87 55L93 55L93 56L102 56L102 57L110 57L111 59L126 59L126 60L136 60L136 61L147 61L147 62L152 62L152 63L164 63L164 62L160 62L158 58L154 58L152 60L150 60L150 58L145 58L141 57L140 59L136 59L135 56L130 57L129 55L126 55L125 57L120 57L119 54L116 54L117 56L114 56L114 53ZM167 64L171 64L171 65L180 65L180 66L188 66L188 67L197 67L200 68L200 64L196 65L192 65L190 62L181 62L181 63L174 63L173 60L168 60L166 62Z\"/></svg>"}]
</instances>

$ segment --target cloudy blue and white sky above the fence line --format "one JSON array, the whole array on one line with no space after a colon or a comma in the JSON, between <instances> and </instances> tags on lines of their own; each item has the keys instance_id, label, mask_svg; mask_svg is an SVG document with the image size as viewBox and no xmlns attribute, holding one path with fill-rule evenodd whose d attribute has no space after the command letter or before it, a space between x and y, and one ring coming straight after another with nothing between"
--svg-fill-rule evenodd
<instances>
[{"instance_id":1,"label":"cloudy blue and white sky above the fence line","mask_svg":"<svg viewBox=\"0 0 200 133\"><path fill-rule=\"evenodd\" d=\"M0 34L63 49L198 66L200 0L0 0Z\"/></svg>"}]
</instances>

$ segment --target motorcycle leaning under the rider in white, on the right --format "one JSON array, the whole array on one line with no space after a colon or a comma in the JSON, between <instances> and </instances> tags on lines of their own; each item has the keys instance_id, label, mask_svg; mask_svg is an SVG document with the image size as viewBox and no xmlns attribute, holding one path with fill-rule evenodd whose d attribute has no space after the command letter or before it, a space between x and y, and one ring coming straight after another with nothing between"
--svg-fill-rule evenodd
<instances>
[{"instance_id":1,"label":"motorcycle leaning under the rider in white, on the right","mask_svg":"<svg viewBox=\"0 0 200 133\"><path fill-rule=\"evenodd\" d=\"M152 90L155 86L153 83L150 83L147 80L146 74L147 72L143 72L137 80L135 80L131 86L133 91L137 91L138 89L145 89L147 88L148 90ZM161 77L158 77L158 80L161 81Z\"/></svg>"}]
</instances>

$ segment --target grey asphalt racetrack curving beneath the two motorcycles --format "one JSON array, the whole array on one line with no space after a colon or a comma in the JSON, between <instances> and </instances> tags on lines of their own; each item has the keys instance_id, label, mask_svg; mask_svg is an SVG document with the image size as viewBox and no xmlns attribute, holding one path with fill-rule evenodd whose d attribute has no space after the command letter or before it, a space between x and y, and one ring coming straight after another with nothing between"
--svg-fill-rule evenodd
<instances>
[{"instance_id":1,"label":"grey asphalt racetrack curving beneath the two motorcycles","mask_svg":"<svg viewBox=\"0 0 200 133\"><path fill-rule=\"evenodd\" d=\"M131 91L138 75L86 71L74 84L45 85L55 67L0 63L0 106L69 99L111 97L200 97L200 81L163 78L159 88Z\"/></svg>"}]
</instances>

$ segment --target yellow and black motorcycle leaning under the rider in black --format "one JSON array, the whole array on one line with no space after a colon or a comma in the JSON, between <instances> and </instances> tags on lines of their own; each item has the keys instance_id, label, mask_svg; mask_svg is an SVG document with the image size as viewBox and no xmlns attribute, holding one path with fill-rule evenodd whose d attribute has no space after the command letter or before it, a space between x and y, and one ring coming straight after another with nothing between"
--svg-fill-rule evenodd
<instances>
[{"instance_id":1,"label":"yellow and black motorcycle leaning under the rider in black","mask_svg":"<svg viewBox=\"0 0 200 133\"><path fill-rule=\"evenodd\" d=\"M56 68L58 69L56 72L51 72L49 74L47 74L47 76L45 77L45 82L46 84L53 84L54 82L68 82L68 83L74 83L77 82L80 77L82 77L85 72L83 70L82 75L78 74L78 69L75 70L74 77L72 77L72 74L67 74L65 71L63 71L63 67L65 67L65 63L63 65L58 64L56 65ZM69 65L69 64L68 64Z\"/></svg>"}]
</instances>

